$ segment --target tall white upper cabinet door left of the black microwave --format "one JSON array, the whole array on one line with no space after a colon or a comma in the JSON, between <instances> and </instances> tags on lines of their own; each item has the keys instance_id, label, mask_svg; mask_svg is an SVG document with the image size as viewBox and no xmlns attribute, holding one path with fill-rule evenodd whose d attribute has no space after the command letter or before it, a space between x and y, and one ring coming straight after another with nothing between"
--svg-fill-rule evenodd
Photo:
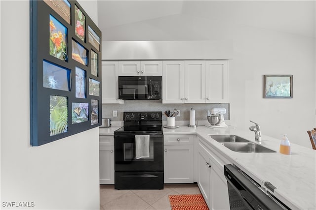
<instances>
[{"instance_id":1,"label":"tall white upper cabinet door left of the black microwave","mask_svg":"<svg viewBox=\"0 0 316 210\"><path fill-rule=\"evenodd\" d=\"M102 103L124 103L118 99L118 61L102 61Z\"/></svg>"}]
</instances>

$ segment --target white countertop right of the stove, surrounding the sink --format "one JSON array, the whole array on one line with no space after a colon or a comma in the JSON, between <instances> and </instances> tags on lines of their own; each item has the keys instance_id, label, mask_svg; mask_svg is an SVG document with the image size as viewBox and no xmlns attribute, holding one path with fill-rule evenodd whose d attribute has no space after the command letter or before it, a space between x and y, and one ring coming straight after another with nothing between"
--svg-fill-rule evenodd
<instances>
[{"instance_id":1,"label":"white countertop right of the stove, surrounding the sink","mask_svg":"<svg viewBox=\"0 0 316 210\"><path fill-rule=\"evenodd\" d=\"M271 182L276 187L272 194L289 208L316 209L316 150L291 143L292 154L280 154L278 150L281 140L262 135L261 145L276 152L242 153L232 151L207 136L233 134L255 142L252 131L239 129L180 126L173 129L163 128L163 134L196 134L258 183Z\"/></svg>"}]
</instances>

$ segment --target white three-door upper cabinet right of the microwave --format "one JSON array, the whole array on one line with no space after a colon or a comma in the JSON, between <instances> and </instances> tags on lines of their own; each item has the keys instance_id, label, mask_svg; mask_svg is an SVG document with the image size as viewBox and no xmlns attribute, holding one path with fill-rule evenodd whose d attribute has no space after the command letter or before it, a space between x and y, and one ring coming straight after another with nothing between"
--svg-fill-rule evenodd
<instances>
[{"instance_id":1,"label":"white three-door upper cabinet right of the microwave","mask_svg":"<svg viewBox=\"0 0 316 210\"><path fill-rule=\"evenodd\" d=\"M162 103L228 103L227 60L162 61Z\"/></svg>"}]
</instances>

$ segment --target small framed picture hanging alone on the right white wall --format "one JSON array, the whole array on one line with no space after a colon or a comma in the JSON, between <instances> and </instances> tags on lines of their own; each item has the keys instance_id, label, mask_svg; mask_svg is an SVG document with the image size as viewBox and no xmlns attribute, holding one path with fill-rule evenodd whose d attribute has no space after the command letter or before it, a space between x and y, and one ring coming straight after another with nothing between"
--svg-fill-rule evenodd
<instances>
[{"instance_id":1,"label":"small framed picture hanging alone on the right white wall","mask_svg":"<svg viewBox=\"0 0 316 210\"><path fill-rule=\"evenodd\" d=\"M264 98L293 98L293 75L264 75Z\"/></svg>"}]
</instances>

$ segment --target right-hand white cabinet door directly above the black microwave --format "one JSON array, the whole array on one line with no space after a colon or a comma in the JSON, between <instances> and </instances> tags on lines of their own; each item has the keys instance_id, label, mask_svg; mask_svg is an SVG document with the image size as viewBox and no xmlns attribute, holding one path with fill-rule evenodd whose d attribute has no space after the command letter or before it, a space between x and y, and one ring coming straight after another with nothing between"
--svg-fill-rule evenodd
<instances>
[{"instance_id":1,"label":"right-hand white cabinet door directly above the black microwave","mask_svg":"<svg viewBox=\"0 0 316 210\"><path fill-rule=\"evenodd\" d=\"M140 61L140 74L142 76L161 76L162 75L162 61L161 60Z\"/></svg>"}]
</instances>

